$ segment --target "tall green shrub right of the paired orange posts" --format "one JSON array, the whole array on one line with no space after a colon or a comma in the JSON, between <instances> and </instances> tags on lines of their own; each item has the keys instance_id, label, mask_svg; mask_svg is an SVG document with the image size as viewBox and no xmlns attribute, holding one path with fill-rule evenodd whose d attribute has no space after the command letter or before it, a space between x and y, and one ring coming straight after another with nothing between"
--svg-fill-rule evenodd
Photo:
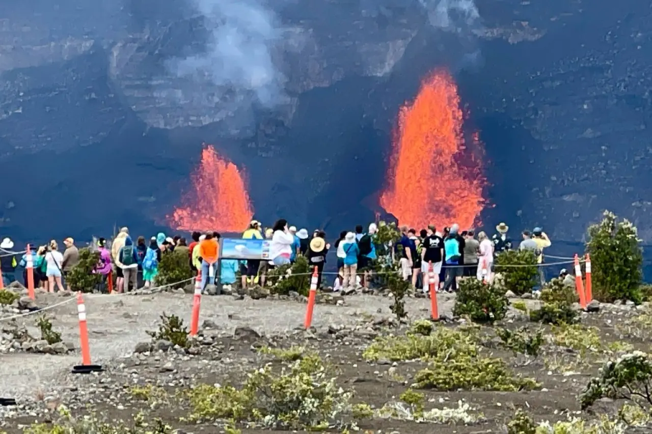
<instances>
[{"instance_id":1,"label":"tall green shrub right of the paired orange posts","mask_svg":"<svg viewBox=\"0 0 652 434\"><path fill-rule=\"evenodd\" d=\"M586 253L591 255L593 298L611 303L632 300L640 303L643 252L636 227L628 220L617 221L604 211L602 222L589 227Z\"/></svg>"}]
</instances>

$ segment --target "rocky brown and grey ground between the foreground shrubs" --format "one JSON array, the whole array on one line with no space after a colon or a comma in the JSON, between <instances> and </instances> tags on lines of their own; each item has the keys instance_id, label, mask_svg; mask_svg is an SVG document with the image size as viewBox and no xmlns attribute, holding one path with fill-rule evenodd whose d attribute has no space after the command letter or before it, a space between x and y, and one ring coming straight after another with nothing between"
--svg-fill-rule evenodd
<instances>
[{"instance_id":1,"label":"rocky brown and grey ground between the foreground shrubs","mask_svg":"<svg viewBox=\"0 0 652 434\"><path fill-rule=\"evenodd\" d=\"M200 336L184 348L147 333L158 329L163 313L178 315L189 323L192 296L183 289L87 295L91 356L94 364L104 368L89 375L70 373L72 366L81 362L74 297L38 293L35 305L19 298L12 306L0 308L0 398L17 401L17 405L0 407L0 432L20 433L35 422L59 420L56 409L61 410L60 405L72 418L94 414L107 420L126 420L128 425L142 417L149 421L160 418L170 429L147 432L259 432L261 424L228 422L231 418L193 420L192 415L200 411L197 403L184 396L201 384L239 386L250 378L246 373L268 363L276 373L282 372L282 367L287 371L293 360L318 354L333 368L334 384L342 388L336 396L348 397L351 392L351 405L363 403L374 411L365 417L351 416L342 426L326 429L328 432L359 429L420 434L436 429L444 433L491 433L504 430L516 408L527 409L537 420L563 420L580 414L576 396L604 360L632 348L647 351L652 336L649 306L594 304L598 311L582 313L580 325L574 328L542 329L541 354L517 354L501 346L494 331L520 326L535 330L539 326L527 323L522 309L536 308L539 301L513 298L512 305L518 308L512 307L500 325L482 327L478 348L483 354L504 360L517 377L539 384L527 392L420 390L426 410L439 409L436 416L431 414L424 421L415 417L409 410L414 408L401 403L399 397L428 363L386 354L370 356L365 351L375 339L404 336L409 323L427 319L430 300L407 298L408 324L397 325L389 311L391 298L382 294L324 297L315 308L313 327L306 331L302 327L306 305L297 297L205 296ZM452 317L454 296L439 295L438 301L446 332L466 330L463 319ZM30 312L35 307L50 306ZM61 335L61 343L50 345L39 339L41 332L35 324L42 315ZM31 337L24 338L25 333ZM452 340L462 335L456 336ZM603 399L599 411L613 413L616 406ZM378 411L387 408L394 410L391 414Z\"/></svg>"}]
</instances>

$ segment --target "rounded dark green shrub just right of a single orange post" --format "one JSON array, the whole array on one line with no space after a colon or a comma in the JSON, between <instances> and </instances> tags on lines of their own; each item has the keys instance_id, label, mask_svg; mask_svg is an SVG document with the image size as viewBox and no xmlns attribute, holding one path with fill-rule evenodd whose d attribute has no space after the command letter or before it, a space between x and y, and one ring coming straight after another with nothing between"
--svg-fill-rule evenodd
<instances>
[{"instance_id":1,"label":"rounded dark green shrub just right of a single orange post","mask_svg":"<svg viewBox=\"0 0 652 434\"><path fill-rule=\"evenodd\" d=\"M469 278L460 281L453 315L468 316L477 323L492 323L503 319L508 307L504 289Z\"/></svg>"}]
</instances>

